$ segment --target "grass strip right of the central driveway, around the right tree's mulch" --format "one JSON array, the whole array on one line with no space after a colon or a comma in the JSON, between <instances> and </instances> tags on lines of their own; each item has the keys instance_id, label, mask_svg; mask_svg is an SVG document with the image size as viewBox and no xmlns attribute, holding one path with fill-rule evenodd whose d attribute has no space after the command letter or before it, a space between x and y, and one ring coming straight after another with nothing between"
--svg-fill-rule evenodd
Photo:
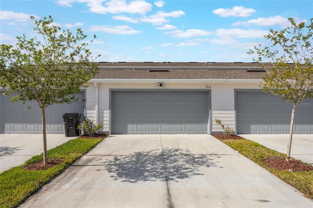
<instances>
[{"instance_id":1,"label":"grass strip right of the central driveway, around the right tree's mulch","mask_svg":"<svg viewBox=\"0 0 313 208\"><path fill-rule=\"evenodd\" d=\"M275 176L282 179L286 183L290 184L292 187L299 190L308 198L313 199L313 171L289 172L287 170L277 170L268 167L265 163L263 163L263 160L268 157L286 158L286 154L277 152L275 150L269 149L266 146L262 146L256 142L246 139L223 139L221 141L231 148L239 151L241 154L243 154L253 162L264 167L269 172L273 173Z\"/></svg>"}]
</instances>

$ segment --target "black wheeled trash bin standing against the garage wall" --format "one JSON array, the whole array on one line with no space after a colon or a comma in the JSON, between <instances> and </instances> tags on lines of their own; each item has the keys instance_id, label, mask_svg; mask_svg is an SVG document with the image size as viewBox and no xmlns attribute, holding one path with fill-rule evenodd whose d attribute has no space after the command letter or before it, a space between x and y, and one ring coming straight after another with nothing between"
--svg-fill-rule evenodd
<instances>
[{"instance_id":1,"label":"black wheeled trash bin standing against the garage wall","mask_svg":"<svg viewBox=\"0 0 313 208\"><path fill-rule=\"evenodd\" d=\"M81 122L81 113L65 113L63 114L65 136L75 137L80 135L80 129L77 126Z\"/></svg>"}]
</instances>

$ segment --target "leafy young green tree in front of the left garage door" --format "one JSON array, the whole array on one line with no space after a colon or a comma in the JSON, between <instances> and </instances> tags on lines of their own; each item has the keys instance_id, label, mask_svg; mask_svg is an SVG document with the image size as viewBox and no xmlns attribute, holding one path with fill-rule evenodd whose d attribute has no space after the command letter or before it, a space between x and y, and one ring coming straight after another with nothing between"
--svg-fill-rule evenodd
<instances>
[{"instance_id":1,"label":"leafy young green tree in front of the left garage door","mask_svg":"<svg viewBox=\"0 0 313 208\"><path fill-rule=\"evenodd\" d=\"M33 22L39 37L17 37L13 45L0 45L0 86L11 100L36 101L42 110L44 164L47 164L45 108L52 104L76 102L75 93L88 87L98 72L98 64L83 42L87 36L78 28L76 34L61 30L51 16ZM96 37L94 36L94 39ZM99 57L99 56L98 56ZM91 60L90 60L91 59ZM13 94L12 94L13 93Z\"/></svg>"}]
</instances>

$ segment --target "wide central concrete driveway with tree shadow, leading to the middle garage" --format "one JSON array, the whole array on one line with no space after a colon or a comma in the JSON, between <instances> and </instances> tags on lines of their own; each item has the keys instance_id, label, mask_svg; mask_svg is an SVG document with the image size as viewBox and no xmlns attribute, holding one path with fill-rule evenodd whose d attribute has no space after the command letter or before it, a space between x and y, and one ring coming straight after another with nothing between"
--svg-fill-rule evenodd
<instances>
[{"instance_id":1,"label":"wide central concrete driveway with tree shadow, leading to the middle garage","mask_svg":"<svg viewBox=\"0 0 313 208\"><path fill-rule=\"evenodd\" d=\"M312 208L210 135L111 135L22 208Z\"/></svg>"}]
</instances>

